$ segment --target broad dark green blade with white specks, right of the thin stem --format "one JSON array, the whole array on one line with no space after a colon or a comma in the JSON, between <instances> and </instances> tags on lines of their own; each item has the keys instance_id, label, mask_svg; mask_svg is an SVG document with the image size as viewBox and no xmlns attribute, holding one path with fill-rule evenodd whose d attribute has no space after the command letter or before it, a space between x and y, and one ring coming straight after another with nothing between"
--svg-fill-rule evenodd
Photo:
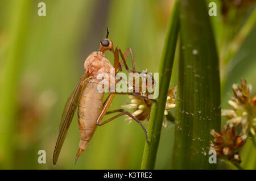
<instances>
[{"instance_id":1,"label":"broad dark green blade with white specks, right of the thin stem","mask_svg":"<svg viewBox=\"0 0 256 181\"><path fill-rule=\"evenodd\" d=\"M180 60L177 81L174 169L214 169L208 159L210 129L219 131L218 56L205 1L179 1Z\"/></svg>"}]
</instances>

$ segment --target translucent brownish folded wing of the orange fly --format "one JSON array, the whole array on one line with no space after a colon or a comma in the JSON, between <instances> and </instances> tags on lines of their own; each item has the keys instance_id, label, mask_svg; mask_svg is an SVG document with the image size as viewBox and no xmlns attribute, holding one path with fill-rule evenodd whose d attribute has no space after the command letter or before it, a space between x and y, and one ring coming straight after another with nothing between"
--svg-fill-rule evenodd
<instances>
[{"instance_id":1,"label":"translucent brownish folded wing of the orange fly","mask_svg":"<svg viewBox=\"0 0 256 181\"><path fill-rule=\"evenodd\" d=\"M54 165L57 162L57 159L60 154L61 146L63 145L66 134L68 132L68 127L71 124L74 112L76 110L77 100L82 90L82 81L84 81L85 78L86 78L86 75L81 77L78 85L76 86L76 89L72 92L71 96L69 96L67 103L65 104L64 111L62 113L61 121L60 121L60 133L59 133L59 137L57 138L57 142L53 152Z\"/></svg>"}]
</instances>

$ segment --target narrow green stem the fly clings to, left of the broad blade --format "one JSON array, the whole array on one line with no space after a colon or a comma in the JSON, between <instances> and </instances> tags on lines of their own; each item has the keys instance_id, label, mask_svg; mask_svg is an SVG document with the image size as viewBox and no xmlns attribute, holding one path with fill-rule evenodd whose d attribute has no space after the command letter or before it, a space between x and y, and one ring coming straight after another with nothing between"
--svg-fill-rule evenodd
<instances>
[{"instance_id":1,"label":"narrow green stem the fly clings to, left of the broad blade","mask_svg":"<svg viewBox=\"0 0 256 181\"><path fill-rule=\"evenodd\" d=\"M159 102L152 104L152 111L148 123L148 139L145 143L141 169L154 169L156 153L158 150L161 128L163 124L164 109L167 92L170 85L172 65L179 31L179 16L177 2L175 2L168 25L163 57L159 71Z\"/></svg>"}]
</instances>

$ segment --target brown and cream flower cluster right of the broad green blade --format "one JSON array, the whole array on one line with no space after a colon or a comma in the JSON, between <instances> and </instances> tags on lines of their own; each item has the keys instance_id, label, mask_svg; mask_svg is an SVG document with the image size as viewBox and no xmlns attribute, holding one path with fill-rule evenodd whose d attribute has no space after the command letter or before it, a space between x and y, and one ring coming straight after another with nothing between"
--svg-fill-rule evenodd
<instances>
[{"instance_id":1,"label":"brown and cream flower cluster right of the broad green blade","mask_svg":"<svg viewBox=\"0 0 256 181\"><path fill-rule=\"evenodd\" d=\"M217 151L217 156L241 163L238 148L245 144L247 135L255 136L256 130L256 95L251 98L251 86L241 78L241 87L232 86L234 97L228 101L232 110L221 110L221 115L228 117L228 122L222 128L221 133L210 131L213 142L210 149ZM235 127L241 127L240 136L236 136Z\"/></svg>"}]
</instances>

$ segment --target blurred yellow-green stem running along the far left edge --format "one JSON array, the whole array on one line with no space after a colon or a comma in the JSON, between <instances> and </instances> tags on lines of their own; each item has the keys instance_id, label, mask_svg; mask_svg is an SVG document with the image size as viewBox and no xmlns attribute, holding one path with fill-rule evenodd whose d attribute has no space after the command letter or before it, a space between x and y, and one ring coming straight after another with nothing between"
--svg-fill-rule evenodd
<instances>
[{"instance_id":1,"label":"blurred yellow-green stem running along the far left edge","mask_svg":"<svg viewBox=\"0 0 256 181\"><path fill-rule=\"evenodd\" d=\"M0 168L11 169L16 144L17 96L21 60L26 45L30 1L11 1L8 21L9 47L1 62L0 80Z\"/></svg>"}]
</instances>

